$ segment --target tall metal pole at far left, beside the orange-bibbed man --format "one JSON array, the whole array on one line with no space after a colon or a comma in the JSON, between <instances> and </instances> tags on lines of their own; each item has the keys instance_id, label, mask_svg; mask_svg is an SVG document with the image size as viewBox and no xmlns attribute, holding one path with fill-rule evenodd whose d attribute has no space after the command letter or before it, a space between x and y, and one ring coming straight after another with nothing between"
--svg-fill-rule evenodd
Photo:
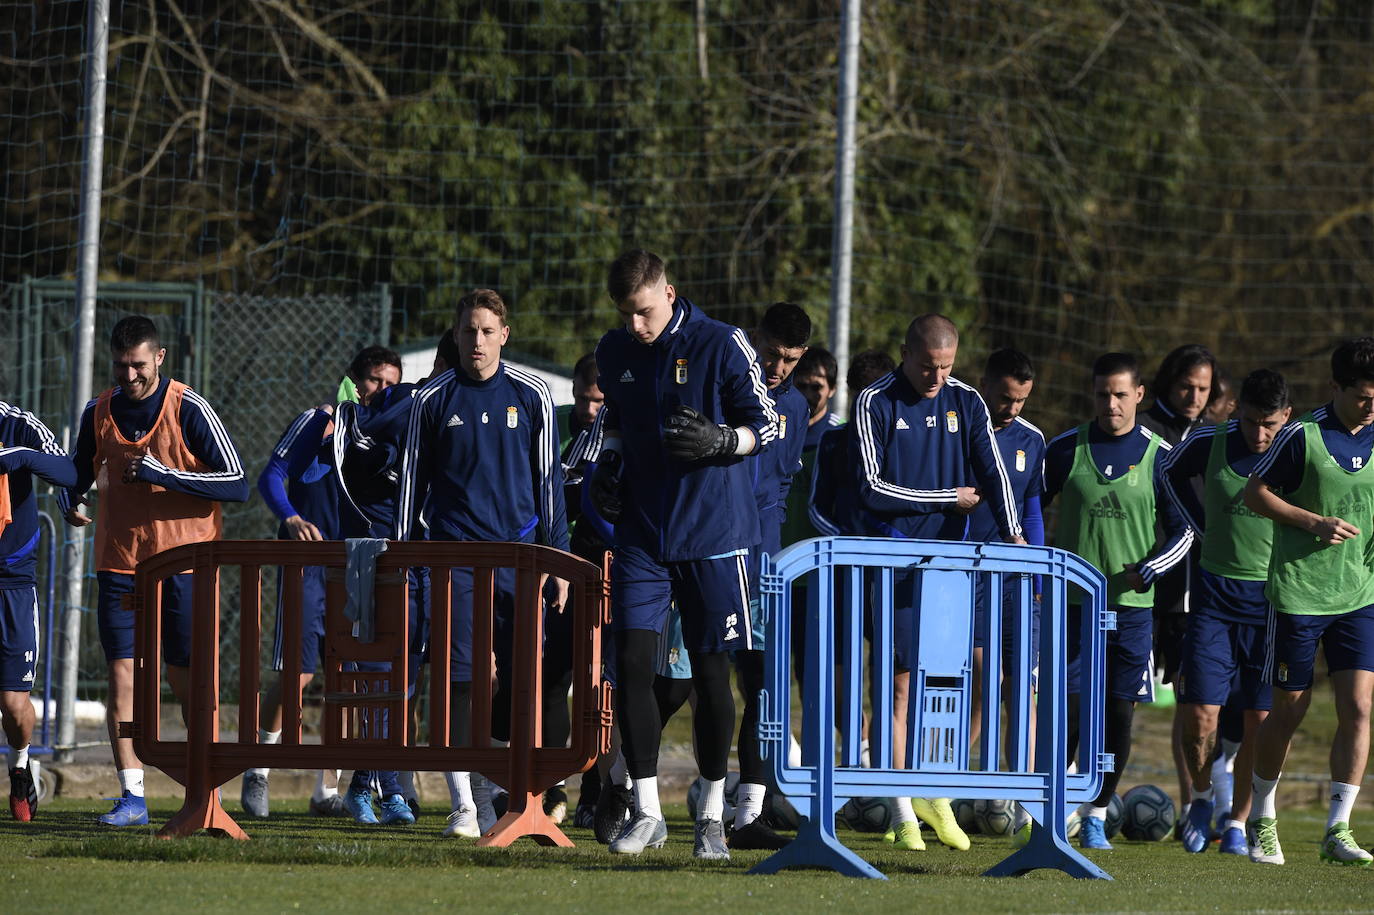
<instances>
[{"instance_id":1,"label":"tall metal pole at far left, beside the orange-bibbed man","mask_svg":"<svg viewBox=\"0 0 1374 915\"><path fill-rule=\"evenodd\" d=\"M91 0L87 18L85 140L81 154L81 228L77 240L77 334L71 383L71 434L76 448L81 414L91 398L95 364L95 297L100 269L100 172L104 162L104 84L110 52L110 3ZM76 745L77 664L81 654L81 578L85 572L85 537L77 530L67 540L66 613L62 626L62 699L58 705L58 746ZM63 750L60 761L70 758Z\"/></svg>"}]
</instances>

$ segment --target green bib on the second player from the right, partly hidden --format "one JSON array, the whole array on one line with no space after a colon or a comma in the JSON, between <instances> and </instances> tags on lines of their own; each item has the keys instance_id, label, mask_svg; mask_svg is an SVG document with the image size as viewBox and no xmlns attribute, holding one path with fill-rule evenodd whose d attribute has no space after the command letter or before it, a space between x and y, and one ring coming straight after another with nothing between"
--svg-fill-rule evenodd
<instances>
[{"instance_id":1,"label":"green bib on the second player from the right, partly hidden","mask_svg":"<svg viewBox=\"0 0 1374 915\"><path fill-rule=\"evenodd\" d=\"M1235 431L1239 436L1239 430ZM1245 504L1246 478L1226 460L1226 425L1216 427L1202 477L1202 567L1216 576L1264 581L1274 550L1274 522Z\"/></svg>"}]
</instances>

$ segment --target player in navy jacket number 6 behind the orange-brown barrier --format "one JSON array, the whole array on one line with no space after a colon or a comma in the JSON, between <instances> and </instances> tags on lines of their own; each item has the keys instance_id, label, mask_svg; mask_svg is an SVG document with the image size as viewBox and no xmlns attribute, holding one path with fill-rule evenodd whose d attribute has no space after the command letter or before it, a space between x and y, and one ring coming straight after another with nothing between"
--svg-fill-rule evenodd
<instances>
[{"instance_id":1,"label":"player in navy jacket number 6 behind the orange-brown barrier","mask_svg":"<svg viewBox=\"0 0 1374 915\"><path fill-rule=\"evenodd\" d=\"M502 361L510 338L506 302L480 289L458 304L453 335L459 365L416 392L401 464L397 537L488 543L539 543L567 550L563 470L558 453L554 398L537 376ZM453 708L459 739L466 739L473 680L473 570L452 572ZM562 613L567 583L552 580L548 607ZM492 647L497 690L492 735L510 735L515 570L493 580ZM441 646L447 647L447 646ZM471 835L475 802L464 793L464 773L449 773L453 804L451 835ZM481 828L485 831L485 828ZM478 833L478 835L481 834Z\"/></svg>"}]
</instances>

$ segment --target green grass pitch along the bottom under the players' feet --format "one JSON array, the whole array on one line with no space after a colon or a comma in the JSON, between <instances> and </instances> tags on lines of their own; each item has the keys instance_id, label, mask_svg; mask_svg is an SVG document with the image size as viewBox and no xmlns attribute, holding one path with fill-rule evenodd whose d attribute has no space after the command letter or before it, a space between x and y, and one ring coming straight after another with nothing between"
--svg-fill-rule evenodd
<instances>
[{"instance_id":1,"label":"green grass pitch along the bottom under the players' feet","mask_svg":"<svg viewBox=\"0 0 1374 915\"><path fill-rule=\"evenodd\" d=\"M573 849L522 841L477 849L440 837L442 819L415 827L364 828L305 815L283 802L271 820L247 823L253 839L196 837L162 841L151 828L98 828L99 802L55 801L34 823L0 820L0 897L7 911L185 912L218 910L403 912L463 911L675 912L710 907L750 911L1370 911L1374 872L1325 866L1316 857L1318 811L1281 820L1289 864L1267 867L1215 850L1190 856L1173 842L1120 841L1095 853L1116 879L1073 881L1058 872L1018 879L980 874L1010 852L1006 839L974 837L973 850L932 845L893 852L878 837L842 831L888 881L823 871L753 877L763 852L728 864L691 857L683 808L669 809L669 845L639 859L611 859L585 830L569 830ZM176 804L154 801L162 823Z\"/></svg>"}]
</instances>

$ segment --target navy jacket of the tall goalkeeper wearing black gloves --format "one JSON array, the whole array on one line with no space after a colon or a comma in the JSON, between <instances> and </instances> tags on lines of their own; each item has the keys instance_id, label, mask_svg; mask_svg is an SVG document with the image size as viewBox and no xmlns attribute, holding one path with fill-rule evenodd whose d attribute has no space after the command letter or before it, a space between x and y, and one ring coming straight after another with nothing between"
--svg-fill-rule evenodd
<instances>
[{"instance_id":1,"label":"navy jacket of the tall goalkeeper wearing black gloves","mask_svg":"<svg viewBox=\"0 0 1374 915\"><path fill-rule=\"evenodd\" d=\"M581 459L595 460L606 434L621 436L617 545L639 547L660 562L684 562L757 544L758 507L745 459L683 463L662 441L664 422L682 404L714 423L750 429L757 448L778 437L778 411L745 331L679 298L653 343L640 343L624 327L602 337L596 368L606 405Z\"/></svg>"}]
</instances>

